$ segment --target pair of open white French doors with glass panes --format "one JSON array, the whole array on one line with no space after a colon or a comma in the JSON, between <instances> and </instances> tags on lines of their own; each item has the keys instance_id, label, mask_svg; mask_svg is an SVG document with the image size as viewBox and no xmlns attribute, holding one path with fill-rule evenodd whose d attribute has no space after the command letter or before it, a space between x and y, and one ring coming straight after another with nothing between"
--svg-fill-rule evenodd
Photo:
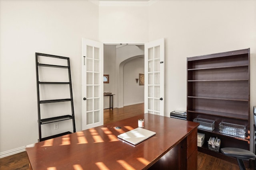
<instances>
[{"instance_id":1,"label":"pair of open white French doors with glass panes","mask_svg":"<svg viewBox=\"0 0 256 170\"><path fill-rule=\"evenodd\" d=\"M145 43L144 112L164 115L164 39ZM103 43L82 39L82 130L103 125Z\"/></svg>"}]
</instances>

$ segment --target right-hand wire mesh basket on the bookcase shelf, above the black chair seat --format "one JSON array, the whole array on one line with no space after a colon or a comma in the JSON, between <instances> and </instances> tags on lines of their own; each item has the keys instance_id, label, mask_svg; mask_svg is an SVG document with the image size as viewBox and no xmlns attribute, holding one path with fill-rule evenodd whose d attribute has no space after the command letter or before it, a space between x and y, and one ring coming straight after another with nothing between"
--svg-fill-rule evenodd
<instances>
[{"instance_id":1,"label":"right-hand wire mesh basket on the bookcase shelf, above the black chair seat","mask_svg":"<svg viewBox=\"0 0 256 170\"><path fill-rule=\"evenodd\" d=\"M245 138L245 135L246 135L246 127L243 125L220 122L219 129L220 129L219 131L220 133L224 133L226 135L242 137L242 138Z\"/></svg>"}]
</instances>

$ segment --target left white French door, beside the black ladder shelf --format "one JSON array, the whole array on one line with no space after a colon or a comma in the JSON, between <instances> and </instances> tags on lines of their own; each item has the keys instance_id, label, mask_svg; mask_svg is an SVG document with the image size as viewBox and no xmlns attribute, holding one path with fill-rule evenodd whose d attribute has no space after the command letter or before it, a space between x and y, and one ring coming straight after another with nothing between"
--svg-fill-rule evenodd
<instances>
[{"instance_id":1,"label":"left white French door, beside the black ladder shelf","mask_svg":"<svg viewBox=\"0 0 256 170\"><path fill-rule=\"evenodd\" d=\"M82 130L103 125L103 43L82 39Z\"/></svg>"}]
</instances>

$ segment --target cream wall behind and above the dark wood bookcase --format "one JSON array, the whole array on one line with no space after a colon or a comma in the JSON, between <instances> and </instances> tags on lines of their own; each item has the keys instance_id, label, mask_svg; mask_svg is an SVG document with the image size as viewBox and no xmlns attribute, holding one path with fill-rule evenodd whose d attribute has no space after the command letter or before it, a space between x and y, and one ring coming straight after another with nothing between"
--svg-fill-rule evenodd
<instances>
[{"instance_id":1,"label":"cream wall behind and above the dark wood bookcase","mask_svg":"<svg viewBox=\"0 0 256 170\"><path fill-rule=\"evenodd\" d=\"M149 40L165 38L166 116L186 109L186 57L246 48L251 52L252 111L256 105L256 1L160 0L149 11ZM252 114L250 124L252 132Z\"/></svg>"}]
</instances>

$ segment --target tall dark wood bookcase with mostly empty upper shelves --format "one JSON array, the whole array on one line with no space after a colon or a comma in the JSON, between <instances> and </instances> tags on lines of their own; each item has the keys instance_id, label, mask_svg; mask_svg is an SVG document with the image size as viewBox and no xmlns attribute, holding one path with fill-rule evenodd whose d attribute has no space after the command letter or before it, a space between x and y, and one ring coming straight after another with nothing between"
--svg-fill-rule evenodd
<instances>
[{"instance_id":1,"label":"tall dark wood bookcase with mostly empty upper shelves","mask_svg":"<svg viewBox=\"0 0 256 170\"><path fill-rule=\"evenodd\" d=\"M250 149L250 49L187 58L187 120L197 117L215 121L213 131L198 129L205 134L200 152L236 162L209 150L210 137L221 140L220 148ZM246 126L246 137L220 133L221 122Z\"/></svg>"}]
</instances>

